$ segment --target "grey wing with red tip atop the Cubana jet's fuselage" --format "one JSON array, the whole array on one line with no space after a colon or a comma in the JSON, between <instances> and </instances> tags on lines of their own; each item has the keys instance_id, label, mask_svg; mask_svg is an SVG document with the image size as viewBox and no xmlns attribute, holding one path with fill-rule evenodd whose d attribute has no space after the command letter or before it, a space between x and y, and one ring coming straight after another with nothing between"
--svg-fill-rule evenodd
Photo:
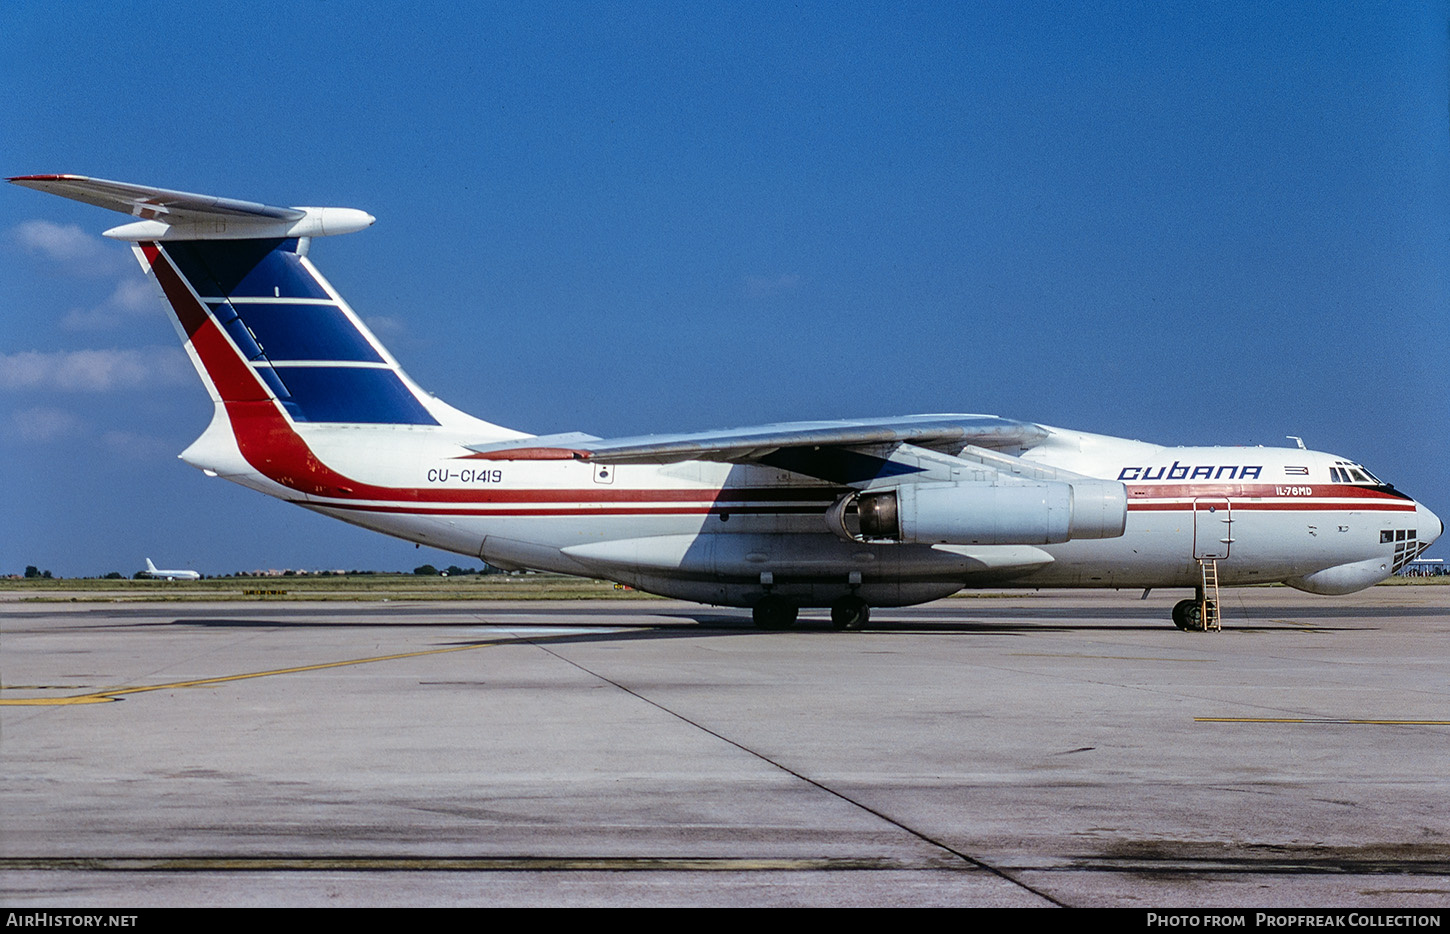
<instances>
[{"instance_id":1,"label":"grey wing with red tip atop the Cubana jet's fuselage","mask_svg":"<svg viewBox=\"0 0 1450 934\"><path fill-rule=\"evenodd\" d=\"M468 445L480 460L579 460L594 464L676 464L718 461L766 464L832 483L867 483L922 467L903 464L893 454L902 445L956 457L973 448L1016 461L1040 444L1047 429L993 415L916 415L876 421L786 422L726 431L680 435L641 435L576 441L568 437L523 438L502 444ZM980 463L980 461L979 461ZM1000 470L1000 464L993 464Z\"/></svg>"}]
</instances>

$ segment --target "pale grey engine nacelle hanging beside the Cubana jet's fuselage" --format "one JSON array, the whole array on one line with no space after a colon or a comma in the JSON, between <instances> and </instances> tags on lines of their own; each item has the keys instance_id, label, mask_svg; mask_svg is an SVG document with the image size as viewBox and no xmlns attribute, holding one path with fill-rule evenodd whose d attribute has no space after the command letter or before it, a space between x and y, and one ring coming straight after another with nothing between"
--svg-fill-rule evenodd
<instances>
[{"instance_id":1,"label":"pale grey engine nacelle hanging beside the Cubana jet's fuselage","mask_svg":"<svg viewBox=\"0 0 1450 934\"><path fill-rule=\"evenodd\" d=\"M857 529L848 524L851 506ZM1128 490L1112 480L905 483L851 493L826 512L826 522L858 541L1050 545L1122 535Z\"/></svg>"}]
</instances>

